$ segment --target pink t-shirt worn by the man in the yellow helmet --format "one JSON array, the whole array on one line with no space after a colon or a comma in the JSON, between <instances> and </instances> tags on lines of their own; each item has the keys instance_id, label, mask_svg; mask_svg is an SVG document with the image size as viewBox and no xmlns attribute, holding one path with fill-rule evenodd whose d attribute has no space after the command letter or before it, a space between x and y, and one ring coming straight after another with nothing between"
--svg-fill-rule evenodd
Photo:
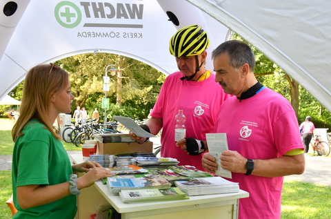
<instances>
[{"instance_id":1,"label":"pink t-shirt worn by the man in the yellow helmet","mask_svg":"<svg viewBox=\"0 0 331 219\"><path fill-rule=\"evenodd\" d=\"M161 88L157 102L154 105L152 117L163 119L161 135L161 156L177 158L179 165L192 165L202 168L201 155L188 155L174 143L174 116L183 110L186 117L186 137L205 140L205 133L214 130L219 106L229 95L223 92L215 82L214 74L201 82L181 80L181 72L169 75Z\"/></svg>"}]
</instances>

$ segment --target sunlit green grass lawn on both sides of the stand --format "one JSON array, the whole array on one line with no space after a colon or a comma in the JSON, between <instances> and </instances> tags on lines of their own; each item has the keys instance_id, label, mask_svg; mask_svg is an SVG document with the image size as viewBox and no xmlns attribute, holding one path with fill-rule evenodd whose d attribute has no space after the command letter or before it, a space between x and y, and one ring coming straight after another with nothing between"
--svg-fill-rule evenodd
<instances>
[{"instance_id":1,"label":"sunlit green grass lawn on both sides of the stand","mask_svg":"<svg viewBox=\"0 0 331 219\"><path fill-rule=\"evenodd\" d=\"M0 155L12 154L11 127L12 120L0 119ZM81 150L74 144L62 143L67 151ZM3 219L11 217L5 203L12 194L11 183L11 171L0 171L0 218ZM284 182L281 209L281 219L331 218L331 187L294 180Z\"/></svg>"}]
</instances>

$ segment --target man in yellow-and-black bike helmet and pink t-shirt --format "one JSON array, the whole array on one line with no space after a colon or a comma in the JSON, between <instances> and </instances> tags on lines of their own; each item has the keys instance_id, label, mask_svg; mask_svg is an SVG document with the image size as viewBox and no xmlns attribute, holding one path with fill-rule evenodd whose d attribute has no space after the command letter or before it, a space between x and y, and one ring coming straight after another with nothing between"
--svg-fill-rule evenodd
<instances>
[{"instance_id":1,"label":"man in yellow-and-black bike helmet and pink t-shirt","mask_svg":"<svg viewBox=\"0 0 331 219\"><path fill-rule=\"evenodd\" d=\"M185 39L185 40L184 40ZM170 39L170 53L175 57L179 71L168 75L161 87L157 102L146 123L147 131L157 135L161 128L161 157L177 158L181 165L192 165L203 170L202 153L207 151L201 140L214 130L217 111L229 97L214 74L205 69L210 42L207 32L198 25L178 30ZM184 144L174 142L174 117L183 110L186 117ZM131 139L143 143L145 137L130 133Z\"/></svg>"}]
</instances>

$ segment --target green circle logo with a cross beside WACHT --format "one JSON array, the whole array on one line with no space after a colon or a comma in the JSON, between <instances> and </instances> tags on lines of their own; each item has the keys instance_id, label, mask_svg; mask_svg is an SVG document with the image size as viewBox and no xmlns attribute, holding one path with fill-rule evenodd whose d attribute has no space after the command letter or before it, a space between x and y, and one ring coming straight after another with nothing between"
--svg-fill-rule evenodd
<instances>
[{"instance_id":1,"label":"green circle logo with a cross beside WACHT","mask_svg":"<svg viewBox=\"0 0 331 219\"><path fill-rule=\"evenodd\" d=\"M81 10L70 1L61 1L55 6L54 15L57 22L65 28L75 28L81 23Z\"/></svg>"}]
</instances>

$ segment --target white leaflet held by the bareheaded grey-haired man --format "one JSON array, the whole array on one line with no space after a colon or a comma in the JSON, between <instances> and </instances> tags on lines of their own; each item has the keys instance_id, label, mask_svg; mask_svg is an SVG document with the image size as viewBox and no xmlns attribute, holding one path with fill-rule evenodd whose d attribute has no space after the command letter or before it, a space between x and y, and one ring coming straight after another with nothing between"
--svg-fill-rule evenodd
<instances>
[{"instance_id":1,"label":"white leaflet held by the bareheaded grey-haired man","mask_svg":"<svg viewBox=\"0 0 331 219\"><path fill-rule=\"evenodd\" d=\"M207 140L209 153L216 158L218 164L214 174L232 179L232 173L221 168L221 160L219 159L221 153L229 149L226 133L207 133L205 134L205 138Z\"/></svg>"}]
</instances>

